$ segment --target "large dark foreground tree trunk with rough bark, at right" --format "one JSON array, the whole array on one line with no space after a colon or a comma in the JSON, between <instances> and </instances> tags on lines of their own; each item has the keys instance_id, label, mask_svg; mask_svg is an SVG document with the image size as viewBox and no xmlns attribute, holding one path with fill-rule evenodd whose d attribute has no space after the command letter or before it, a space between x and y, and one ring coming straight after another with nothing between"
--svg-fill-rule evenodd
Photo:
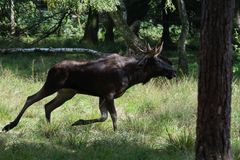
<instances>
[{"instance_id":1,"label":"large dark foreground tree trunk with rough bark, at right","mask_svg":"<svg viewBox=\"0 0 240 160\"><path fill-rule=\"evenodd\" d=\"M202 0L196 160L231 160L234 0Z\"/></svg>"}]
</instances>

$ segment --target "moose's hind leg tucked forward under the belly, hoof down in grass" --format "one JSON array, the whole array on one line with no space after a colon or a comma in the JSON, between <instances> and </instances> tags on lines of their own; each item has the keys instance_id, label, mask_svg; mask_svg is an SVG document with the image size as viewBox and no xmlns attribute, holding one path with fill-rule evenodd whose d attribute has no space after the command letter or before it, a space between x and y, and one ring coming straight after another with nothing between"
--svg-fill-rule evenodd
<instances>
[{"instance_id":1,"label":"moose's hind leg tucked forward under the belly, hoof down in grass","mask_svg":"<svg viewBox=\"0 0 240 160\"><path fill-rule=\"evenodd\" d=\"M54 109L60 107L66 101L70 100L75 94L76 92L71 89L61 89L60 91L58 91L57 96L44 106L47 121L51 121L51 112Z\"/></svg>"}]
</instances>

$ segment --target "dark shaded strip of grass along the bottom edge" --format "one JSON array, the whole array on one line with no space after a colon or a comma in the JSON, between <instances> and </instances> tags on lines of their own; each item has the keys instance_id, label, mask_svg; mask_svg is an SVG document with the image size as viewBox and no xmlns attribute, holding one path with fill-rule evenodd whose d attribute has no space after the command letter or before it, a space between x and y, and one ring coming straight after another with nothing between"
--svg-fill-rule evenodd
<instances>
[{"instance_id":1,"label":"dark shaded strip of grass along the bottom edge","mask_svg":"<svg viewBox=\"0 0 240 160\"><path fill-rule=\"evenodd\" d=\"M191 153L171 152L166 149L154 149L143 144L117 140L95 140L81 143L74 148L67 145L54 145L52 142L34 142L19 140L0 135L0 160L179 160L189 159ZM33 141L33 142L31 142Z\"/></svg>"}]
</instances>

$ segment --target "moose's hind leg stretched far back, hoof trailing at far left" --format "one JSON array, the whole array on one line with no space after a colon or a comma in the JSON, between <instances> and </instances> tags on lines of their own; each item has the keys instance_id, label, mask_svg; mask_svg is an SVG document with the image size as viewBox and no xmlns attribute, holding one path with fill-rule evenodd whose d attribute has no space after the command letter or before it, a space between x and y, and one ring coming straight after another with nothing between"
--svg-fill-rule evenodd
<instances>
[{"instance_id":1,"label":"moose's hind leg stretched far back, hoof trailing at far left","mask_svg":"<svg viewBox=\"0 0 240 160\"><path fill-rule=\"evenodd\" d=\"M26 111L28 107L30 107L33 103L40 101L41 99L53 94L55 91L46 91L45 88L43 87L40 91L38 91L36 94L29 96L18 114L18 116L15 118L14 121L10 122L8 125L6 125L2 131L9 131L10 129L14 128L17 126L18 122L20 121L23 113Z\"/></svg>"}]
</instances>

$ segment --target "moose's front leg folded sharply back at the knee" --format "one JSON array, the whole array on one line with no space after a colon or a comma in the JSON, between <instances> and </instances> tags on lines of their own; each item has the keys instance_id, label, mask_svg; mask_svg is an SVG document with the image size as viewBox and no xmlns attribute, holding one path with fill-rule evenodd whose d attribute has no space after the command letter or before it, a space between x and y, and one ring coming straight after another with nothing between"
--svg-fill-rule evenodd
<instances>
[{"instance_id":1,"label":"moose's front leg folded sharply back at the knee","mask_svg":"<svg viewBox=\"0 0 240 160\"><path fill-rule=\"evenodd\" d=\"M104 122L108 118L108 110L106 108L106 100L103 98L99 98L99 109L101 112L101 117L96 118L96 119L89 119L89 120L83 120L80 119L72 124L72 126L76 125L86 125L86 124L91 124L91 123L96 123L96 122Z\"/></svg>"}]
</instances>

